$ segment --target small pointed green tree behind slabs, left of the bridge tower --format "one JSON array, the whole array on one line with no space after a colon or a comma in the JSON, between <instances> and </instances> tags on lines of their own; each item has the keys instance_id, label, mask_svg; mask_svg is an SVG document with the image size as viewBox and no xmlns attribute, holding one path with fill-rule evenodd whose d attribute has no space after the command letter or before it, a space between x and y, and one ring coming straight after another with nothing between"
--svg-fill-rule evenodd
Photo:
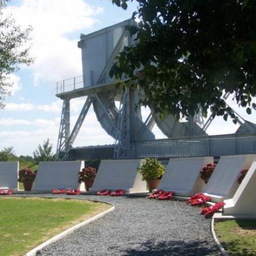
<instances>
[{"instance_id":1,"label":"small pointed green tree behind slabs, left of the bridge tower","mask_svg":"<svg viewBox=\"0 0 256 256\"><path fill-rule=\"evenodd\" d=\"M33 156L36 163L55 160L55 156L52 153L52 144L49 143L49 139L44 141L43 146L39 144L38 148L33 152Z\"/></svg>"}]
</instances>

